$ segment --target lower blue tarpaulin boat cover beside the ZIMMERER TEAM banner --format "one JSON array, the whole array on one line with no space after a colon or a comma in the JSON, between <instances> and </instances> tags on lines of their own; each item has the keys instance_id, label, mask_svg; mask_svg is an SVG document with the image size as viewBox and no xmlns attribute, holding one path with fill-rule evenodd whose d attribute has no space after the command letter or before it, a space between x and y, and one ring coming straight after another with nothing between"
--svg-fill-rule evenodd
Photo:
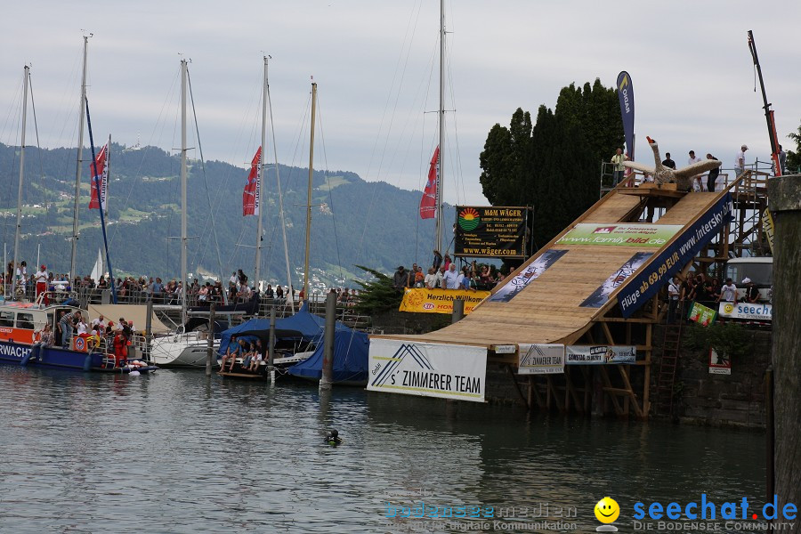
<instances>
[{"instance_id":1,"label":"lower blue tarpaulin boat cover beside the ZIMMERER TEAM banner","mask_svg":"<svg viewBox=\"0 0 801 534\"><path fill-rule=\"evenodd\" d=\"M334 382L367 383L370 340L367 334L352 328L337 328L334 333ZM320 380L323 344L308 359L288 369L289 374Z\"/></svg>"}]
</instances>

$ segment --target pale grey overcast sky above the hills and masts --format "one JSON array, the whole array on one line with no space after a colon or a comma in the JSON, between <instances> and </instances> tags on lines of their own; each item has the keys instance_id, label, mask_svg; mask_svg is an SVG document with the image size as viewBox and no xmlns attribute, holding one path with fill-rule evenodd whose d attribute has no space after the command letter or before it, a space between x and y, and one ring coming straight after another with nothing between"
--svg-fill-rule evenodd
<instances>
[{"instance_id":1,"label":"pale grey overcast sky above the hills and masts","mask_svg":"<svg viewBox=\"0 0 801 534\"><path fill-rule=\"evenodd\" d=\"M746 32L753 29L780 142L801 123L801 2L446 3L449 36L445 200L486 204L479 154L490 127L514 109L553 107L570 82L635 92L636 158L646 135L680 165L687 151L732 167L770 144ZM310 77L319 85L315 167L421 187L436 144L436 0L188 2L36 1L3 8L0 142L18 143L22 67L31 65L40 142L76 146L82 29L89 40L89 100L96 137L165 150L177 130L179 53L191 60L206 158L244 168L260 135L263 53L281 163L308 165ZM456 128L454 128L456 126ZM35 144L28 127L28 144ZM86 138L88 143L88 136ZM96 141L97 142L97 141ZM100 144L100 142L97 142ZM192 146L197 143L192 142ZM611 156L611 155L610 155ZM271 156L272 149L271 149ZM457 175L451 171L457 171ZM596 180L597 176L587 179ZM242 181L245 181L243 174Z\"/></svg>"}]
</instances>

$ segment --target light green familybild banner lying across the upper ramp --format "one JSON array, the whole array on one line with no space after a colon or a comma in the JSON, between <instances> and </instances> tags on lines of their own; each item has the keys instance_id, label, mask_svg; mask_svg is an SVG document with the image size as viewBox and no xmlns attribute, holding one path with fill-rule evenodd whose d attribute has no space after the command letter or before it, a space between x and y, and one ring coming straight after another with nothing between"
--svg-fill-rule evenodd
<instances>
[{"instance_id":1,"label":"light green familybild banner lying across the upper ramp","mask_svg":"<svg viewBox=\"0 0 801 534\"><path fill-rule=\"evenodd\" d=\"M681 229L681 224L578 223L555 244L659 248Z\"/></svg>"}]
</instances>

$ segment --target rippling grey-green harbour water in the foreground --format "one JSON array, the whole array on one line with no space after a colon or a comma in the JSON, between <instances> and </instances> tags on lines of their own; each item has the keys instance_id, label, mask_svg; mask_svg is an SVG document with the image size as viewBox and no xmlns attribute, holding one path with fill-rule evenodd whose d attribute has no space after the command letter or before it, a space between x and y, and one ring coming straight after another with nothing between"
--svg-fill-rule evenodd
<instances>
[{"instance_id":1,"label":"rippling grey-green harbour water in the foreground","mask_svg":"<svg viewBox=\"0 0 801 534\"><path fill-rule=\"evenodd\" d=\"M761 433L335 389L0 365L0 532L412 532L394 506L492 506L595 531L619 502L765 502ZM323 444L336 427L340 447ZM753 499L753 501L752 501ZM387 503L391 508L387 507ZM514 510L510 511L510 507ZM566 512L562 512L563 514ZM522 519L520 520L522 521ZM498 530L500 527L496 528ZM484 529L488 530L488 529ZM490 528L489 530L492 530ZM507 530L508 531L508 530Z\"/></svg>"}]
</instances>

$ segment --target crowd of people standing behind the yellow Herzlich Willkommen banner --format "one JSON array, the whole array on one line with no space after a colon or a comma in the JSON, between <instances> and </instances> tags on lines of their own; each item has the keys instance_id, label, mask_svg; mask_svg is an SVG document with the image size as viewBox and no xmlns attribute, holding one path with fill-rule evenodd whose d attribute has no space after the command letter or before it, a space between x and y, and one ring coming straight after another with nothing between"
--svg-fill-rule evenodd
<instances>
[{"instance_id":1,"label":"crowd of people standing behind the yellow Herzlich Willkommen banner","mask_svg":"<svg viewBox=\"0 0 801 534\"><path fill-rule=\"evenodd\" d=\"M495 265L480 265L473 260L457 268L450 255L443 256L434 250L432 265L426 273L417 263L412 264L410 271L401 265L392 276L392 287L400 293L407 287L490 290L503 279L503 273Z\"/></svg>"}]
</instances>

